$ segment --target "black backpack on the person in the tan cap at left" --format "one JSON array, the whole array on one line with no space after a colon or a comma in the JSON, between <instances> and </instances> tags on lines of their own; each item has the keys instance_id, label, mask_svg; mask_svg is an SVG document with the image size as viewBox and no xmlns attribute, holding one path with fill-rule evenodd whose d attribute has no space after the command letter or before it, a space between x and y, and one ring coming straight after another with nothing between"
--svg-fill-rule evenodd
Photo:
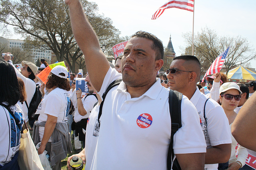
<instances>
[{"instance_id":1,"label":"black backpack on the person in the tan cap at left","mask_svg":"<svg viewBox=\"0 0 256 170\"><path fill-rule=\"evenodd\" d=\"M27 101L25 101L26 106L28 108L28 119L29 120L37 120L39 114L35 114L36 113L36 109L38 107L38 105L40 104L42 100L42 92L40 91L40 85L36 85L36 91L34 93L34 96L30 102L30 105L28 107L28 103Z\"/></svg>"}]
</instances>

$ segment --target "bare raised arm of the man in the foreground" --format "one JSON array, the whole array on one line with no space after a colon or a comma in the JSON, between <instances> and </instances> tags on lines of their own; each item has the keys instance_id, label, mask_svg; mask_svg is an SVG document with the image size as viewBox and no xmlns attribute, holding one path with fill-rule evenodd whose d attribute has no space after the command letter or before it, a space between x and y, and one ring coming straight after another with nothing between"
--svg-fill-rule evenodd
<instances>
[{"instance_id":1,"label":"bare raised arm of the man in the foreground","mask_svg":"<svg viewBox=\"0 0 256 170\"><path fill-rule=\"evenodd\" d=\"M100 49L97 35L87 20L81 2L79 0L65 0L65 2L69 7L70 21L76 43L84 53L90 81L94 88L100 91L110 65Z\"/></svg>"}]
</instances>

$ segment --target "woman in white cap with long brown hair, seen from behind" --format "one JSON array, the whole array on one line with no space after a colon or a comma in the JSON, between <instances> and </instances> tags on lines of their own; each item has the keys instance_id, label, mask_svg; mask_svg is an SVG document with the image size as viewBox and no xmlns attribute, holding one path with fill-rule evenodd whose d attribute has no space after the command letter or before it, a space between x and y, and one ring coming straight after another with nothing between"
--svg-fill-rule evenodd
<instances>
[{"instance_id":1,"label":"woman in white cap with long brown hair, seen from behind","mask_svg":"<svg viewBox=\"0 0 256 170\"><path fill-rule=\"evenodd\" d=\"M48 94L38 106L39 113L38 123L45 122L44 127L39 127L39 137L41 145L38 149L38 154L42 154L46 150L51 156L51 136L56 126L56 123L67 123L68 113L70 109L70 84L67 79L68 71L64 66L55 66L46 83ZM58 150L54 150L55 154ZM60 160L61 161L61 160ZM53 169L60 169L60 161L57 162Z\"/></svg>"}]
</instances>

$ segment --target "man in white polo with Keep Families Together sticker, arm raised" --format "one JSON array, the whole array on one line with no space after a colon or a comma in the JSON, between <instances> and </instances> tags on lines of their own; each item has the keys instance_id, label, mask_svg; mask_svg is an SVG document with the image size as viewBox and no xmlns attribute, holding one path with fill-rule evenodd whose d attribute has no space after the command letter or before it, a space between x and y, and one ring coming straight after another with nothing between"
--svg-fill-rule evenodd
<instances>
[{"instance_id":1,"label":"man in white polo with Keep Families Together sticker, arm raised","mask_svg":"<svg viewBox=\"0 0 256 170\"><path fill-rule=\"evenodd\" d=\"M163 65L162 42L143 31L132 35L124 49L121 76L110 68L80 1L66 0L66 4L74 37L98 94L102 96L114 80L123 80L104 100L91 169L166 170L171 136L169 90L156 78ZM182 169L202 170L206 143L200 119L185 96L181 107L182 127L174 135L174 153Z\"/></svg>"}]
</instances>

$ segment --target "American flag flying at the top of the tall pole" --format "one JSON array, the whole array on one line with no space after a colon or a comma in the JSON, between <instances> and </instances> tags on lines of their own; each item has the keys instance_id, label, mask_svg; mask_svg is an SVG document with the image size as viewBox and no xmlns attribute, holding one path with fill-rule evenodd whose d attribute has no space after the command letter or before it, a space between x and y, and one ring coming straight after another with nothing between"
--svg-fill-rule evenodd
<instances>
[{"instance_id":1,"label":"American flag flying at the top of the tall pole","mask_svg":"<svg viewBox=\"0 0 256 170\"><path fill-rule=\"evenodd\" d=\"M168 8L180 8L183 10L194 11L194 0L169 0L161 6L152 16L152 20L157 19Z\"/></svg>"}]
</instances>

